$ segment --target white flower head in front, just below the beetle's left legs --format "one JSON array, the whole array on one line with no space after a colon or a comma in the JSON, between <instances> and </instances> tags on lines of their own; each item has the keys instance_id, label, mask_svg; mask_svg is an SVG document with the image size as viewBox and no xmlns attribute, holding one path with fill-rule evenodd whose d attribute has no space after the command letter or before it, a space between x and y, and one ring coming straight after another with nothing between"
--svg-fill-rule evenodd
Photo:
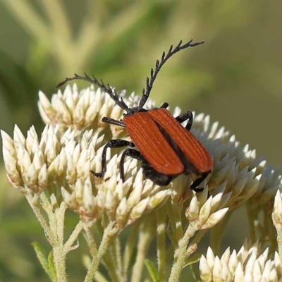
<instances>
[{"instance_id":1,"label":"white flower head in front, just below the beetle's left legs","mask_svg":"<svg viewBox=\"0 0 282 282\"><path fill-rule=\"evenodd\" d=\"M123 183L119 176L119 161L117 155L109 160L104 178L96 180L96 189L91 185L93 176L87 178L84 185L78 180L70 186L71 190L61 188L63 200L80 214L80 219L88 226L103 215L119 227L132 224L171 197L170 189L161 189L152 181L143 179L135 159L125 162L127 179Z\"/></svg>"}]
</instances>

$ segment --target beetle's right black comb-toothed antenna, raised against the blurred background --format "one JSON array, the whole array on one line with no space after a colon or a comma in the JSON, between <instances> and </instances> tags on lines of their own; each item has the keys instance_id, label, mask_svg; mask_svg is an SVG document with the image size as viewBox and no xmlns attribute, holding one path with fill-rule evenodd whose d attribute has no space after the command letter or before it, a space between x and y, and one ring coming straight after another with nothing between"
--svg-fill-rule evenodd
<instances>
[{"instance_id":1,"label":"beetle's right black comb-toothed antenna, raised against the blurred background","mask_svg":"<svg viewBox=\"0 0 282 282\"><path fill-rule=\"evenodd\" d=\"M157 60L156 61L156 66L155 69L151 68L151 75L150 78L147 78L146 80L146 90L145 88L143 88L143 95L142 98L140 100L139 106L140 108L142 108L145 103L147 102L147 99L149 98L149 94L152 90L153 84L154 84L154 80L157 78L157 74L159 73L159 71L161 70L161 67L164 66L164 63L166 63L166 61L173 55L176 54L178 51L188 48L188 47L195 47L197 45L203 44L204 41L200 41L200 42L195 42L192 43L192 39L186 43L186 44L182 44L182 40L180 40L180 42L178 43L178 45L176 46L176 48L173 49L173 45L171 45L171 48L169 48L167 54L165 52L163 52L162 56L161 56L161 61Z\"/></svg>"}]
</instances>

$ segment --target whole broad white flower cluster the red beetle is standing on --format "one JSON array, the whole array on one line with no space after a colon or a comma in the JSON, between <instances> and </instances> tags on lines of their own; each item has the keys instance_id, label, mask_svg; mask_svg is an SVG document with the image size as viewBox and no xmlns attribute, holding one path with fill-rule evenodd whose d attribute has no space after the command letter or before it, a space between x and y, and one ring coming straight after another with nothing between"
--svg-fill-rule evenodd
<instances>
[{"instance_id":1,"label":"whole broad white flower cluster the red beetle is standing on","mask_svg":"<svg viewBox=\"0 0 282 282\"><path fill-rule=\"evenodd\" d=\"M132 94L123 99L128 106L136 106L140 97ZM13 187L36 193L45 188L63 187L63 200L87 222L106 213L120 224L130 223L169 197L174 202L188 200L185 207L192 201L194 209L195 197L189 189L192 180L186 176L178 176L168 185L169 189L163 190L150 180L143 180L136 161L129 159L125 162L126 181L122 183L118 176L120 157L111 158L109 152L104 178L91 176L90 170L102 171L102 142L121 134L127 137L124 128L102 122L104 116L121 119L123 110L99 88L95 91L91 85L78 92L75 84L67 85L63 93L59 90L53 95L51 102L39 92L38 106L47 123L40 138L33 127L26 138L17 127L13 139L1 132L7 176ZM147 109L153 106L148 100ZM174 115L178 114L177 108ZM242 149L234 136L225 128L219 128L219 123L210 123L209 116L204 114L195 115L192 133L214 159L213 171L200 187L208 188L213 196L207 201L208 204L212 201L212 212L219 207L234 209L247 200L262 205L274 198L281 183L279 171L257 159L255 151L248 146ZM217 194L222 199L217 199ZM217 200L219 207L214 208ZM198 212L201 213L203 207L206 210L206 206L200 204Z\"/></svg>"}]
</instances>

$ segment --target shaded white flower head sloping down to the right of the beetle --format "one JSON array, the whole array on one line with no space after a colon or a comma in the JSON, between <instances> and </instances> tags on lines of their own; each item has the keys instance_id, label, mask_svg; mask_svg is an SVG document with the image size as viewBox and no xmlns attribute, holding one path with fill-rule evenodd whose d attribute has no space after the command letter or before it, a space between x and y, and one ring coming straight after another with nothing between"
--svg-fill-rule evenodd
<instances>
[{"instance_id":1,"label":"shaded white flower head sloping down to the right of the beetle","mask_svg":"<svg viewBox=\"0 0 282 282\"><path fill-rule=\"evenodd\" d=\"M177 108L174 116L180 114ZM262 158L256 157L249 145L241 147L219 123L210 123L209 116L198 114L191 132L202 142L214 159L214 168L207 178L209 192L215 195L224 183L225 192L232 192L226 205L234 209L250 200L252 206L262 206L274 199L281 188L281 169L272 168Z\"/></svg>"}]
</instances>

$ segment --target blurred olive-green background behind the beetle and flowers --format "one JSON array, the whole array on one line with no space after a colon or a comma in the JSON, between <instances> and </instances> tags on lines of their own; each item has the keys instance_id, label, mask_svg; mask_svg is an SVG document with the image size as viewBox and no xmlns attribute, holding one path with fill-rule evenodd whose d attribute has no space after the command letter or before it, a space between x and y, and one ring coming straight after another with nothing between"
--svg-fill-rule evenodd
<instances>
[{"instance_id":1,"label":"blurred olive-green background behind the beetle and flowers","mask_svg":"<svg viewBox=\"0 0 282 282\"><path fill-rule=\"evenodd\" d=\"M180 39L204 40L166 63L151 98L209 114L280 165L281 8L275 0L1 0L0 128L10 135L15 123L24 133L32 124L41 130L38 91L51 97L54 85L73 73L94 73L117 90L140 94L162 51ZM30 245L44 243L42 230L9 188L3 164L0 183L0 281L48 281ZM240 246L244 228L238 221L231 226L226 245ZM80 251L74 253L70 281L85 271Z\"/></svg>"}]
</instances>

